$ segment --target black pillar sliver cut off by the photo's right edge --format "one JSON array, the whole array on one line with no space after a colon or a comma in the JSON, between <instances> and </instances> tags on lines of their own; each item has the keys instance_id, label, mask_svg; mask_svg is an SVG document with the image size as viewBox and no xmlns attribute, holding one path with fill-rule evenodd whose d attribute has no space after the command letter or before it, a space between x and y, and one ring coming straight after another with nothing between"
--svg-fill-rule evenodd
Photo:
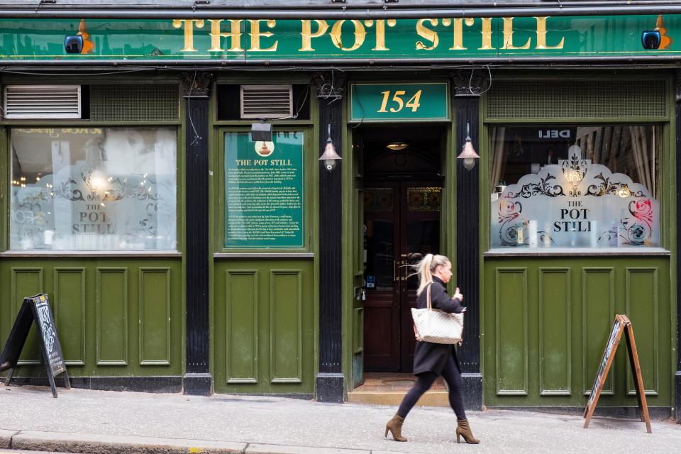
<instances>
[{"instance_id":1,"label":"black pillar sliver cut off by the photo's right edge","mask_svg":"<svg viewBox=\"0 0 681 454\"><path fill-rule=\"evenodd\" d=\"M676 72L676 282L681 282L681 71ZM681 292L676 290L675 419L681 424Z\"/></svg>"}]
</instances>

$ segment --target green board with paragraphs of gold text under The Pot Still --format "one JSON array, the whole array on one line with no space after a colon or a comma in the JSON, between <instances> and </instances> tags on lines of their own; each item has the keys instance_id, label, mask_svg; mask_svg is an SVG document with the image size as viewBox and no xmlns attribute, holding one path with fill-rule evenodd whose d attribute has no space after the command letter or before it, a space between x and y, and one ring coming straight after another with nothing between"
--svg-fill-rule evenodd
<instances>
[{"instance_id":1,"label":"green board with paragraphs of gold text under The Pot Still","mask_svg":"<svg viewBox=\"0 0 681 454\"><path fill-rule=\"evenodd\" d=\"M304 247L304 134L225 133L226 249Z\"/></svg>"}]
</instances>

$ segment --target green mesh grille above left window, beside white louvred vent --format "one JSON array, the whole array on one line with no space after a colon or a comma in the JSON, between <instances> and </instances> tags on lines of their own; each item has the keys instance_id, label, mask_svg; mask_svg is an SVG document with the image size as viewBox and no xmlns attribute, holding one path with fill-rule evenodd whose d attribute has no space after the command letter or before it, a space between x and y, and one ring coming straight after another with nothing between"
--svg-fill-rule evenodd
<instances>
[{"instance_id":1,"label":"green mesh grille above left window, beside white louvred vent","mask_svg":"<svg viewBox=\"0 0 681 454\"><path fill-rule=\"evenodd\" d=\"M91 85L92 121L177 121L177 85Z\"/></svg>"}]
</instances>

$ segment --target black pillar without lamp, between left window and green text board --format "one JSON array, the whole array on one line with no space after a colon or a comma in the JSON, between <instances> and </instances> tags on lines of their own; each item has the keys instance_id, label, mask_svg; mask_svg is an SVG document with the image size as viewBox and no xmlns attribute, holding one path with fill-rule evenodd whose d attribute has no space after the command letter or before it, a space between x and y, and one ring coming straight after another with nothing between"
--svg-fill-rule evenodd
<instances>
[{"instance_id":1,"label":"black pillar without lamp, between left window and green text board","mask_svg":"<svg viewBox=\"0 0 681 454\"><path fill-rule=\"evenodd\" d=\"M208 100L211 74L184 72L186 135L184 173L185 248L187 279L187 361L184 393L209 395L213 380L209 370L209 217L208 217Z\"/></svg>"}]
</instances>

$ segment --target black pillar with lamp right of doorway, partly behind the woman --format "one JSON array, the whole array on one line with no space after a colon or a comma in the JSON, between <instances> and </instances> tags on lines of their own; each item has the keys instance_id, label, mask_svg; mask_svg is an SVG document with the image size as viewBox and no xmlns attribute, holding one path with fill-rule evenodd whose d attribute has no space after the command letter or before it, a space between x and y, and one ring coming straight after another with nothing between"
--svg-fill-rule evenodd
<instances>
[{"instance_id":1,"label":"black pillar with lamp right of doorway, partly behind the woman","mask_svg":"<svg viewBox=\"0 0 681 454\"><path fill-rule=\"evenodd\" d=\"M477 73L477 72L476 72ZM466 125L476 150L480 149L480 77L470 70L453 73L456 147L454 158L461 153L466 138ZM472 89L472 90L471 90ZM482 374L480 373L480 162L466 170L463 160L456 162L456 284L467 307L463 345L458 357L465 387L467 409L482 409Z\"/></svg>"}]
</instances>

